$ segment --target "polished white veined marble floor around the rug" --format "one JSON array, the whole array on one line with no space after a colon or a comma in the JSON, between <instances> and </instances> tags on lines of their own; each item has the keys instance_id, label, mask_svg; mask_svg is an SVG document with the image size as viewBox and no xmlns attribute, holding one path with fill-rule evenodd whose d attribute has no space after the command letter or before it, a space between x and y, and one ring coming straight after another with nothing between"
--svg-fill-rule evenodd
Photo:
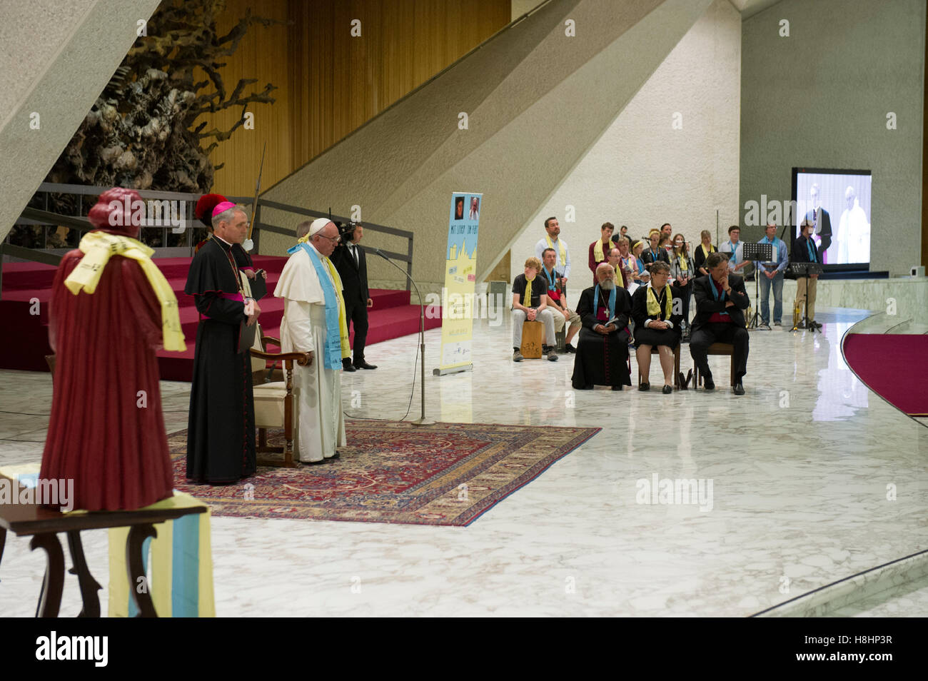
<instances>
[{"instance_id":1,"label":"polished white veined marble floor around the rug","mask_svg":"<svg viewBox=\"0 0 928 681\"><path fill-rule=\"evenodd\" d=\"M441 331L429 331L430 418L603 430L467 528L213 519L217 613L745 616L924 550L928 429L869 392L840 351L866 315L822 308L814 336L753 331L741 397L574 391L573 355L510 361L505 317L475 322L472 371L432 377ZM346 412L402 418L416 377L416 418L417 348L415 336L371 346L380 368L343 376ZM720 387L726 359L711 360ZM655 361L653 383L658 372ZM161 385L169 431L187 425L188 388ZM0 466L39 460L50 394L47 374L0 372ZM681 494L652 492L654 480L683 481ZM105 534L85 547L106 584ZM8 538L0 614L34 611L39 554ZM871 601L842 614L928 613L923 585ZM63 607L79 610L72 577Z\"/></svg>"}]
</instances>

